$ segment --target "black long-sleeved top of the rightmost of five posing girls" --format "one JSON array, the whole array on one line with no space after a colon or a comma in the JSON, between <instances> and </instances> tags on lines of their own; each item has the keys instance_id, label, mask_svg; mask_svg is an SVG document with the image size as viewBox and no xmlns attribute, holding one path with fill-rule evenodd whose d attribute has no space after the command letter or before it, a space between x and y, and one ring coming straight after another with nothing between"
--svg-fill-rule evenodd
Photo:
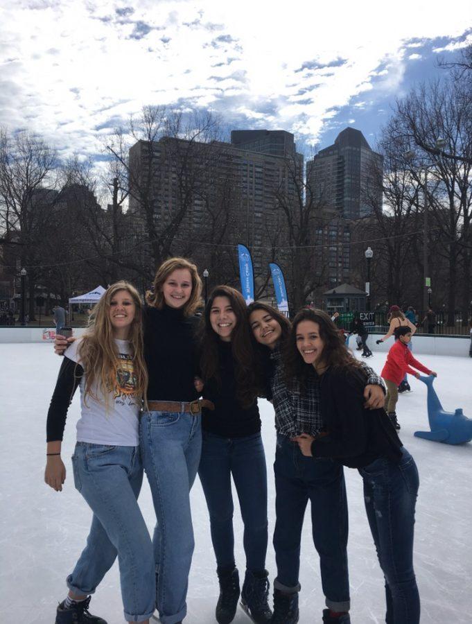
<instances>
[{"instance_id":1,"label":"black long-sleeved top of the rightmost of five posing girls","mask_svg":"<svg viewBox=\"0 0 472 624\"><path fill-rule=\"evenodd\" d=\"M399 461L403 444L383 408L364 408L364 388L361 370L329 369L322 375L320 408L328 435L313 442L313 457L335 458L351 468L379 457Z\"/></svg>"}]
</instances>

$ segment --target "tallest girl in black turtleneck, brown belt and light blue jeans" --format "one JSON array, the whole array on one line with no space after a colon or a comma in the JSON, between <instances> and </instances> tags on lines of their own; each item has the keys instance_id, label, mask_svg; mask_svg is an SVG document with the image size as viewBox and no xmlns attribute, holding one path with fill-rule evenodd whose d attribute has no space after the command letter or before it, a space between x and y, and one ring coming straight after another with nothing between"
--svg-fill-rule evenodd
<instances>
[{"instance_id":1,"label":"tallest girl in black turtleneck, brown belt and light blue jeans","mask_svg":"<svg viewBox=\"0 0 472 624\"><path fill-rule=\"evenodd\" d=\"M144 309L144 356L148 368L148 411L139 423L143 465L157 517L153 546L156 605L164 624L181 623L193 554L189 492L202 448L195 310L202 284L184 258L157 269Z\"/></svg>"}]
</instances>

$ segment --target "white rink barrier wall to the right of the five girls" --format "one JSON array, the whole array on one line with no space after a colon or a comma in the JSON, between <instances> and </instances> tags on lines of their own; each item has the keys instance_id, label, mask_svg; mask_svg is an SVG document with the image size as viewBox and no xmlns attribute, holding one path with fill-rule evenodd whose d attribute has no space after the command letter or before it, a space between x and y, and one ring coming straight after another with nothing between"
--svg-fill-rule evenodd
<instances>
[{"instance_id":1,"label":"white rink barrier wall to the right of the five girls","mask_svg":"<svg viewBox=\"0 0 472 624\"><path fill-rule=\"evenodd\" d=\"M394 338L385 340L385 343L376 345L376 340L385 336L385 333L369 333L367 338L367 345L373 352L389 351L390 347L394 344ZM349 338L349 346L352 347L356 342L356 338L351 336ZM455 357L469 357L469 349L471 347L471 339L467 336L433 336L428 334L419 334L419 336L413 335L412 337L412 349L413 354L428 354L428 355L444 355Z\"/></svg>"}]
</instances>

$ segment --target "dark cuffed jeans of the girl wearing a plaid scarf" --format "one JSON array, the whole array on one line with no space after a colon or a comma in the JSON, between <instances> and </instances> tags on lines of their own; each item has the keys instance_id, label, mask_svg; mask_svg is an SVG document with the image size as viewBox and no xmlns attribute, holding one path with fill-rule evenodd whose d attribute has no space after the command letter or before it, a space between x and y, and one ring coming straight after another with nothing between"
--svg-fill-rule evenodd
<instances>
[{"instance_id":1,"label":"dark cuffed jeans of the girl wearing a plaid scarf","mask_svg":"<svg viewBox=\"0 0 472 624\"><path fill-rule=\"evenodd\" d=\"M333 611L349 611L348 516L342 466L331 459L304 457L298 444L277 435L274 473L274 587L288 593L300 589L301 528L310 500L313 542L320 555L326 606Z\"/></svg>"}]
</instances>

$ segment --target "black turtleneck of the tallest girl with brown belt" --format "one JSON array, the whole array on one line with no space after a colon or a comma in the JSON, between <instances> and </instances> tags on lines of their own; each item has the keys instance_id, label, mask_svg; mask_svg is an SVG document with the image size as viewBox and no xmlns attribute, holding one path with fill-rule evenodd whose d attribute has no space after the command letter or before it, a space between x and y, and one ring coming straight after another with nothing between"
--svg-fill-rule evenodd
<instances>
[{"instance_id":1,"label":"black turtleneck of the tallest girl with brown belt","mask_svg":"<svg viewBox=\"0 0 472 624\"><path fill-rule=\"evenodd\" d=\"M195 401L198 372L195 326L198 317L164 305L144 309L144 357L148 367L148 401Z\"/></svg>"}]
</instances>

